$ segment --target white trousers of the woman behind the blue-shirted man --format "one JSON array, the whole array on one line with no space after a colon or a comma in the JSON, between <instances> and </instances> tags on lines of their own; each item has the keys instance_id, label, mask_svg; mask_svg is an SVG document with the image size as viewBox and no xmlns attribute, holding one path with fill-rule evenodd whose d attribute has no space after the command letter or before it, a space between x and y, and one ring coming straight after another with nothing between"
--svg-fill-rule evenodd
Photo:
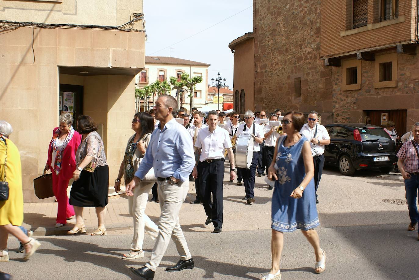
<instances>
[{"instance_id":1,"label":"white trousers of the woman behind the blue-shirted man","mask_svg":"<svg viewBox=\"0 0 419 280\"><path fill-rule=\"evenodd\" d=\"M142 250L144 241L144 230L155 239L158 235L157 225L145 215L145 206L147 205L148 193L154 183L139 183L134 188L134 195L128 196L129 214L134 220L134 236L132 237L131 250Z\"/></svg>"}]
</instances>

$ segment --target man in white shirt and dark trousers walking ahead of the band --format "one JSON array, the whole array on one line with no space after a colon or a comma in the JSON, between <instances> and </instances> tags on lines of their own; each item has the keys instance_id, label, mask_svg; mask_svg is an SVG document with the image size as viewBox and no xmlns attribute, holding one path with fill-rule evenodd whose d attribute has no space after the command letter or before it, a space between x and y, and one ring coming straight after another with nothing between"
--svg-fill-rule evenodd
<instances>
[{"instance_id":1,"label":"man in white shirt and dark trousers walking ahead of the band","mask_svg":"<svg viewBox=\"0 0 419 280\"><path fill-rule=\"evenodd\" d=\"M216 111L208 112L208 128L199 131L195 141L195 149L200 154L199 161L194 168L193 175L198 177L201 192L204 194L202 204L204 204L207 220L205 224L212 221L214 231L222 231L222 212L223 212L223 181L224 181L224 151L227 149L232 170L230 179L234 180L234 154L228 136L228 132L218 126L218 114ZM211 202L211 194L213 201Z\"/></svg>"}]
</instances>

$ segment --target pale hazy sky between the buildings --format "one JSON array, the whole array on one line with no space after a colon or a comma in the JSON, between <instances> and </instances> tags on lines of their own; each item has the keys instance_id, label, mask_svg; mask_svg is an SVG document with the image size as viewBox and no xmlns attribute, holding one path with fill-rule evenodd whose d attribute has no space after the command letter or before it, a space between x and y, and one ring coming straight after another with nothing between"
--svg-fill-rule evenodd
<instances>
[{"instance_id":1,"label":"pale hazy sky between the buildings","mask_svg":"<svg viewBox=\"0 0 419 280\"><path fill-rule=\"evenodd\" d=\"M208 82L220 72L227 79L225 85L233 88L233 53L228 44L253 31L253 0L144 0L143 5L145 55L170 54L211 64Z\"/></svg>"}]
</instances>

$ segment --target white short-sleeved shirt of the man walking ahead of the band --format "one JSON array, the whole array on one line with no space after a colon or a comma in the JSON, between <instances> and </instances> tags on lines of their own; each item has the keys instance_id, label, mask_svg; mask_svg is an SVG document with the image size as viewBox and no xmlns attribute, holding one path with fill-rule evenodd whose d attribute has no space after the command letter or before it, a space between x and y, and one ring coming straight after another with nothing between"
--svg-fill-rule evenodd
<instances>
[{"instance_id":1,"label":"white short-sleeved shirt of the man walking ahead of the band","mask_svg":"<svg viewBox=\"0 0 419 280\"><path fill-rule=\"evenodd\" d=\"M199 161L203 162L205 159L224 158L225 149L233 146L231 145L228 132L217 126L212 133L208 127L201 129L195 141L195 147L202 148Z\"/></svg>"}]
</instances>

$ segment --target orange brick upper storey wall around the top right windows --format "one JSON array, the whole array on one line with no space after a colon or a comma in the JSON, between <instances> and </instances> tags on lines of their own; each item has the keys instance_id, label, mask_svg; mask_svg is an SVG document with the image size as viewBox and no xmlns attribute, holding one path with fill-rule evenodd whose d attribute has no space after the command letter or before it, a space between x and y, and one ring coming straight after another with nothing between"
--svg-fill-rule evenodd
<instances>
[{"instance_id":1,"label":"orange brick upper storey wall around the top right windows","mask_svg":"<svg viewBox=\"0 0 419 280\"><path fill-rule=\"evenodd\" d=\"M352 0L321 1L321 57L344 54L389 44L414 40L414 14L416 0L399 0L399 16L394 24L391 21L378 23L379 1L368 1L368 25L357 28L365 30L347 36L341 31L352 28ZM404 20L403 20L404 19ZM401 22L398 22L401 21ZM413 21L413 22L412 22ZM398 23L397 23L398 22ZM381 25L382 27L377 27Z\"/></svg>"}]
</instances>

